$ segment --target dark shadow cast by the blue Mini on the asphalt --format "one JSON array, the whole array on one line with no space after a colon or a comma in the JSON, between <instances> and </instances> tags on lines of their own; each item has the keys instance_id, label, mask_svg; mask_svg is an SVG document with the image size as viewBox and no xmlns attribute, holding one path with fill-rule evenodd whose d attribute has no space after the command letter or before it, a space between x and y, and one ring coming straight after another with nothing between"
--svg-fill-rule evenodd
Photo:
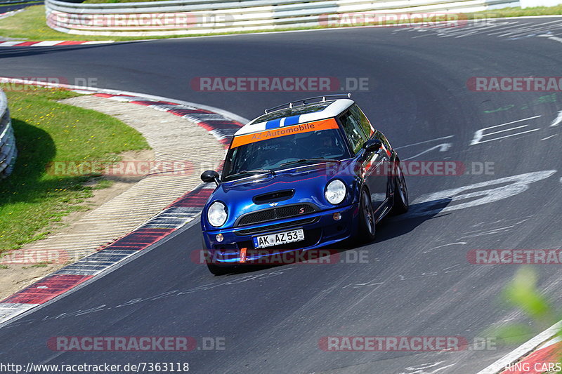
<instances>
[{"instance_id":1,"label":"dark shadow cast by the blue Mini on the asphalt","mask_svg":"<svg viewBox=\"0 0 562 374\"><path fill-rule=\"evenodd\" d=\"M436 217L436 215L443 217L443 214L440 215L440 213L451 201L451 198L447 198L413 204L410 206L410 209L409 211L407 211L407 213L384 218L384 220L377 224L377 238L370 243L358 243L358 241L356 240L344 241L339 243L339 245L337 246L329 246L325 248L318 248L318 250L305 251L303 253L310 253L311 251L313 251L314 255L304 255L300 258L298 255L289 255L287 257L280 254L277 258L281 260L273 260L273 262L275 262L275 265L240 265L238 267L235 267L233 269L233 272L230 272L230 275L257 272L264 269L293 265L299 262L304 263L300 261L300 259L316 261L315 263L340 262L340 258L346 251L351 251L355 248L358 248L359 246L367 246L372 243L379 243L381 241L396 238L397 236L401 236L413 231L416 227L421 225L422 222L431 220L432 218ZM283 259L285 259L285 262L283 262Z\"/></svg>"}]
</instances>

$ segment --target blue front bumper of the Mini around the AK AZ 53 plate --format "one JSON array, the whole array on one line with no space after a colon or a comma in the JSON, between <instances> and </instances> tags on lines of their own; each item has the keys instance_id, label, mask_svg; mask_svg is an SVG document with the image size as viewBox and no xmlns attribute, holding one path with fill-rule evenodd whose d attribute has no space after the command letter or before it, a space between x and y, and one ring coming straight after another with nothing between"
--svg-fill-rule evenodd
<instances>
[{"instance_id":1,"label":"blue front bumper of the Mini around the AK AZ 53 plate","mask_svg":"<svg viewBox=\"0 0 562 374\"><path fill-rule=\"evenodd\" d=\"M334 220L334 213L340 213L341 219ZM237 265L241 263L242 248L246 248L246 255L242 256L244 263L267 264L270 263L267 261L268 257L330 246L355 236L358 231L358 214L359 207L355 203L258 225L205 231L203 242L206 247L204 249L207 249L206 259L214 265ZM303 229L304 240L279 246L254 248L254 236L286 232L291 229ZM223 235L222 241L216 240L217 234Z\"/></svg>"}]
</instances>

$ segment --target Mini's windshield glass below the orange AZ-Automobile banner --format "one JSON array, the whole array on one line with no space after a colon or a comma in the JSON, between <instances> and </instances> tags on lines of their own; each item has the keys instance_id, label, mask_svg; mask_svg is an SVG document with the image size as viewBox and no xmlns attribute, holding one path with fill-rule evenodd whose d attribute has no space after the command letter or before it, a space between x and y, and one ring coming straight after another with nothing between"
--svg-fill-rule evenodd
<instances>
[{"instance_id":1,"label":"Mini's windshield glass below the orange AZ-Automobile banner","mask_svg":"<svg viewBox=\"0 0 562 374\"><path fill-rule=\"evenodd\" d=\"M305 159L344 159L348 150L338 129L296 133L231 148L226 157L225 180L245 178L256 173L248 171L275 171L294 168L283 165Z\"/></svg>"}]
</instances>

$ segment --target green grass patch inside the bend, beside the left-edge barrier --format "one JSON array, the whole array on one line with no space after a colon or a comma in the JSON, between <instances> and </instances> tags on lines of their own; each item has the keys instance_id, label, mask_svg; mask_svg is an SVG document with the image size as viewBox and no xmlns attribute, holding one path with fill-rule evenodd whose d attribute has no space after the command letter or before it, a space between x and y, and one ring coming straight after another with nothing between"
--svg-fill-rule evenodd
<instances>
[{"instance_id":1,"label":"green grass patch inside the bend, beside the left-edge barrier","mask_svg":"<svg viewBox=\"0 0 562 374\"><path fill-rule=\"evenodd\" d=\"M0 87L8 97L18 147L13 174L0 180L1 253L46 237L65 215L87 209L81 203L93 189L109 185L84 186L92 179L87 175L53 175L47 172L49 163L117 161L120 152L149 146L140 133L112 116L55 101L77 93Z\"/></svg>"}]
</instances>

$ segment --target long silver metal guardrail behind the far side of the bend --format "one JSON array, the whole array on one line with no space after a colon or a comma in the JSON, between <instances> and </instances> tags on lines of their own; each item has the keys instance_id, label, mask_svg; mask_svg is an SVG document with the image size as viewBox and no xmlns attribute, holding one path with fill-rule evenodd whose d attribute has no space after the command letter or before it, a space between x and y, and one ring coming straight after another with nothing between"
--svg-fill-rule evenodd
<instances>
[{"instance_id":1,"label":"long silver metal guardrail behind the far side of the bend","mask_svg":"<svg viewBox=\"0 0 562 374\"><path fill-rule=\"evenodd\" d=\"M327 27L330 15L468 13L519 0L169 0L74 4L46 0L47 25L70 34L155 36Z\"/></svg>"}]
</instances>

